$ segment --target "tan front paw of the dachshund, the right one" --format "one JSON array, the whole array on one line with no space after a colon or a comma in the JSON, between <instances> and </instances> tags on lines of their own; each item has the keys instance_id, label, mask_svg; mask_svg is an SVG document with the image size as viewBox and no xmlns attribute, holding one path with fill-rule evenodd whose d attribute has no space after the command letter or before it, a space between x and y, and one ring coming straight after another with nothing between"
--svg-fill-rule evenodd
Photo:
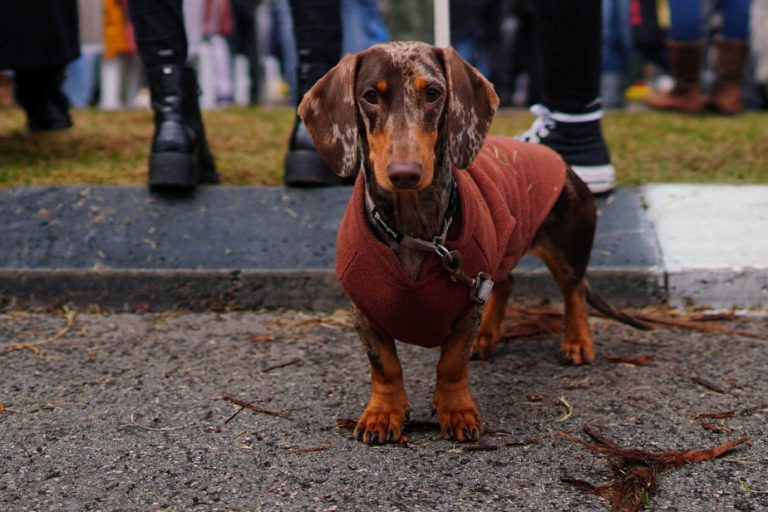
<instances>
[{"instance_id":1,"label":"tan front paw of the dachshund, the right one","mask_svg":"<svg viewBox=\"0 0 768 512\"><path fill-rule=\"evenodd\" d=\"M437 413L443 439L459 442L480 439L483 424L468 389L453 392L435 390L432 408Z\"/></svg>"}]
</instances>

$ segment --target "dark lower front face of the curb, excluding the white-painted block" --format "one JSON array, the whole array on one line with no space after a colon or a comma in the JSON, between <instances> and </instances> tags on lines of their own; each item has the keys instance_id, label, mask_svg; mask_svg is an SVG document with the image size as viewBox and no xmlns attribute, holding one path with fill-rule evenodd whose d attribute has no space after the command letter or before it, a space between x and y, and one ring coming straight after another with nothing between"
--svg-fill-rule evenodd
<instances>
[{"instance_id":1,"label":"dark lower front face of the curb, excluding the white-painted block","mask_svg":"<svg viewBox=\"0 0 768 512\"><path fill-rule=\"evenodd\" d=\"M515 300L559 301L544 269L514 273ZM611 303L665 300L658 269L596 269L591 286ZM225 311L295 308L332 311L349 305L335 272L302 270L0 269L0 309L68 305L96 311Z\"/></svg>"}]
</instances>

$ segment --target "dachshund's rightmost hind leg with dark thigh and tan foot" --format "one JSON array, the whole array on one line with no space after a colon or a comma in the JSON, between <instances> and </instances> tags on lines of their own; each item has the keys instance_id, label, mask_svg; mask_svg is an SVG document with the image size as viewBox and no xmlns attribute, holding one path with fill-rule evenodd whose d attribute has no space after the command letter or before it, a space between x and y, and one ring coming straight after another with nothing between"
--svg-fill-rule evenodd
<instances>
[{"instance_id":1,"label":"dachshund's rightmost hind leg with dark thigh and tan foot","mask_svg":"<svg viewBox=\"0 0 768 512\"><path fill-rule=\"evenodd\" d=\"M592 251L597 212L586 185L572 172L560 197L534 237L530 251L547 264L565 299L565 338L561 356L570 364L591 363L595 350L589 332L584 276Z\"/></svg>"}]
</instances>

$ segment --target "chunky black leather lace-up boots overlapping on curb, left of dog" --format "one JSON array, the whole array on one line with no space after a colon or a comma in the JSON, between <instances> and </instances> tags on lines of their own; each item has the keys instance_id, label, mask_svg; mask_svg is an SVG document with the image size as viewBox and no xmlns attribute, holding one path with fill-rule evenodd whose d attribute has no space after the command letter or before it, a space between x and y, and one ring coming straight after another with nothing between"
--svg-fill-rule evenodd
<instances>
[{"instance_id":1,"label":"chunky black leather lace-up boots overlapping on curb, left of dog","mask_svg":"<svg viewBox=\"0 0 768 512\"><path fill-rule=\"evenodd\" d=\"M188 190L198 183L218 183L200 115L194 70L162 65L148 69L147 78L155 111L150 188Z\"/></svg>"}]
</instances>

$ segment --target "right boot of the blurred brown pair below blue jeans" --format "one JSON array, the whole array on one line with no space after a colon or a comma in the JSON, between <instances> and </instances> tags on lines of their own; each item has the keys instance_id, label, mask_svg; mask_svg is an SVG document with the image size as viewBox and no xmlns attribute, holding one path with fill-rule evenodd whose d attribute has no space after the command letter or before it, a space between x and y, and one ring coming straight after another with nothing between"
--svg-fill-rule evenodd
<instances>
[{"instance_id":1,"label":"right boot of the blurred brown pair below blue jeans","mask_svg":"<svg viewBox=\"0 0 768 512\"><path fill-rule=\"evenodd\" d=\"M717 41L715 86L709 105L721 114L734 115L744 110L741 85L749 43L737 39Z\"/></svg>"}]
</instances>

